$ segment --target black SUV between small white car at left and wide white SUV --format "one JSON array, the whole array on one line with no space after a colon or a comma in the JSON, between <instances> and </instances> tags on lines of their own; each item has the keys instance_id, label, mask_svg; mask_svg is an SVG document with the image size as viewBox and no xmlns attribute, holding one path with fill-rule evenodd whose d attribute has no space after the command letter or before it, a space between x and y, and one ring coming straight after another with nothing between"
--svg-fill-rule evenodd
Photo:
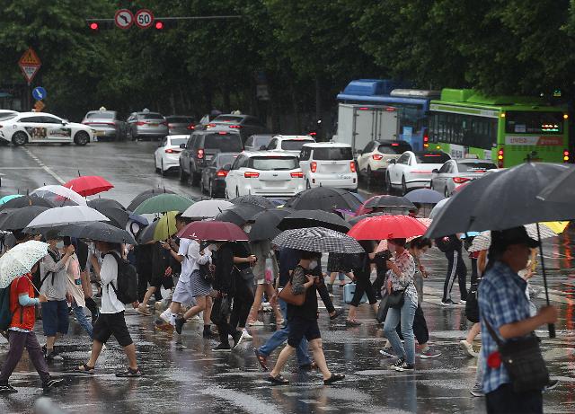
<instances>
[{"instance_id":1,"label":"black SUV between small white car at left and wide white SUV","mask_svg":"<svg viewBox=\"0 0 575 414\"><path fill-rule=\"evenodd\" d=\"M210 128L194 131L186 144L180 145L180 181L191 178L191 185L199 185L202 170L217 153L241 153L239 132L228 128Z\"/></svg>"}]
</instances>

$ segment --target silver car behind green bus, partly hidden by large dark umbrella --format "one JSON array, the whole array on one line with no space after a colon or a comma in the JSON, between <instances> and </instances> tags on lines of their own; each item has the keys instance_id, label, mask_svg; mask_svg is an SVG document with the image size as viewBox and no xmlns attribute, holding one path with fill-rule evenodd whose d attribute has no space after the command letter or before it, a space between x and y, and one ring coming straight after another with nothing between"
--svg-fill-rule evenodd
<instances>
[{"instance_id":1,"label":"silver car behind green bus, partly hidden by large dark umbrella","mask_svg":"<svg viewBox=\"0 0 575 414\"><path fill-rule=\"evenodd\" d=\"M490 170L497 170L497 165L489 160L473 158L449 160L439 170L433 171L430 187L450 197L457 187L482 177Z\"/></svg>"}]
</instances>

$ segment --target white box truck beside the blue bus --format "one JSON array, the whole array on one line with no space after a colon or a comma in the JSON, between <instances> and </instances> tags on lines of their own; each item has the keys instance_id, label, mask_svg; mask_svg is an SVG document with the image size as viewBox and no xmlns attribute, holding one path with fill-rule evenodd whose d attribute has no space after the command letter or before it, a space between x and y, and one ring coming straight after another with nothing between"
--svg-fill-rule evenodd
<instances>
[{"instance_id":1,"label":"white box truck beside the blue bus","mask_svg":"<svg viewBox=\"0 0 575 414\"><path fill-rule=\"evenodd\" d=\"M399 117L394 107L340 103L338 134L333 141L351 145L357 154L375 139L399 139L399 132Z\"/></svg>"}]
</instances>

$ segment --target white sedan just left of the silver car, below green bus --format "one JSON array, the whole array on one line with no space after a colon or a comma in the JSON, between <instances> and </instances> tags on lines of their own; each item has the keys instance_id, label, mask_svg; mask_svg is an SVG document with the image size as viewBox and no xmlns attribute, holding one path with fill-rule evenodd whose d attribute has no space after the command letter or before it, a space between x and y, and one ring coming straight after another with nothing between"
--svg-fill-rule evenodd
<instances>
[{"instance_id":1,"label":"white sedan just left of the silver car, below green bus","mask_svg":"<svg viewBox=\"0 0 575 414\"><path fill-rule=\"evenodd\" d=\"M394 189L401 189L404 195L410 189L429 188L433 170L438 170L450 159L449 154L443 151L404 152L387 167L385 185L388 194Z\"/></svg>"}]
</instances>

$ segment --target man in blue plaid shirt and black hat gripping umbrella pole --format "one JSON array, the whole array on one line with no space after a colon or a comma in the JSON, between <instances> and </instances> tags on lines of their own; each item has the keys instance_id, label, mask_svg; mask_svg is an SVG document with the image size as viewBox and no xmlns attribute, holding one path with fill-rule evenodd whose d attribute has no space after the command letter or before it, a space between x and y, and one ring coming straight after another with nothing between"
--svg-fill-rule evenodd
<instances>
[{"instance_id":1,"label":"man in blue plaid shirt and black hat gripping umbrella pole","mask_svg":"<svg viewBox=\"0 0 575 414\"><path fill-rule=\"evenodd\" d=\"M525 269L530 248L539 243L531 239L525 227L491 232L490 264L479 285L479 310L482 323L482 361L485 361L483 392L489 413L542 413L541 391L514 392L507 370L497 358L497 343L485 322L501 340L530 334L545 323L557 319L553 306L544 306L530 317L525 295L526 281L517 275Z\"/></svg>"}]
</instances>

